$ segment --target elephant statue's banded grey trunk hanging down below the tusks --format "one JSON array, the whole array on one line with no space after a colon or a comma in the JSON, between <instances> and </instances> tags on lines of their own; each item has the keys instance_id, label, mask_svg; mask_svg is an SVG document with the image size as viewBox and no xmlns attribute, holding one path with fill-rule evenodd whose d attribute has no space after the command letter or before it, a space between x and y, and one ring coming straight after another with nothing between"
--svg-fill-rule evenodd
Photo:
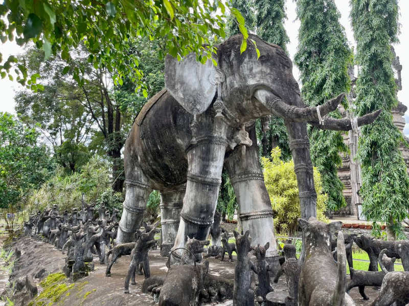
<instances>
[{"instance_id":1,"label":"elephant statue's banded grey trunk hanging down below the tusks","mask_svg":"<svg viewBox=\"0 0 409 306\"><path fill-rule=\"evenodd\" d=\"M316 192L314 185L314 172L310 156L310 142L305 122L285 122L290 142L290 150L294 161L294 171L297 175L297 183L300 198L301 218L316 217ZM304 232L303 232L303 241ZM303 246L299 258L302 264L305 259Z\"/></svg>"}]
</instances>

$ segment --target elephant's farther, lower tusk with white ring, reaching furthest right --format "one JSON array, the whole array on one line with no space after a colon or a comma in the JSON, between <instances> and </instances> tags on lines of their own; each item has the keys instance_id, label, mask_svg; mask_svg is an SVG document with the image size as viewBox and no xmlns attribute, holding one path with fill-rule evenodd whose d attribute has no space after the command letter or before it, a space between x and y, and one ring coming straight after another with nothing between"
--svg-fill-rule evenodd
<instances>
[{"instance_id":1,"label":"elephant's farther, lower tusk with white ring, reaching furthest right","mask_svg":"<svg viewBox=\"0 0 409 306\"><path fill-rule=\"evenodd\" d=\"M382 110L377 110L362 117L358 117L356 119L358 127L366 124L371 124L376 120L376 118L378 118L380 113L382 113ZM317 120L308 121L308 123L314 125L315 127L319 127L322 130L350 131L353 129L351 119L335 119L331 117L325 117L323 124L320 124L320 122Z\"/></svg>"}]
</instances>

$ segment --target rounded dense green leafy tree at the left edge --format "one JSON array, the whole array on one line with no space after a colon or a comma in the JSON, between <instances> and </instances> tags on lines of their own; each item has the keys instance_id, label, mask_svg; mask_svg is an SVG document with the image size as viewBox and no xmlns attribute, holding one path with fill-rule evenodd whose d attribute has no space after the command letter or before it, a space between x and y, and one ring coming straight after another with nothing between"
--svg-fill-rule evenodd
<instances>
[{"instance_id":1,"label":"rounded dense green leafy tree at the left edge","mask_svg":"<svg viewBox=\"0 0 409 306\"><path fill-rule=\"evenodd\" d=\"M17 205L49 176L53 163L37 138L35 129L0 112L0 208Z\"/></svg>"}]
</instances>

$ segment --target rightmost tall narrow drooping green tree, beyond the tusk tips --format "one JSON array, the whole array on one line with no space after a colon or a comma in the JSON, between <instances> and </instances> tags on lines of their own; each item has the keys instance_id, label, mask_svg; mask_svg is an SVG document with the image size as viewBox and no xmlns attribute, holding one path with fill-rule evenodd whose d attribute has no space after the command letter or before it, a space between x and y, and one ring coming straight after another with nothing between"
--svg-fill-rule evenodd
<instances>
[{"instance_id":1,"label":"rightmost tall narrow drooping green tree, beyond the tusk tips","mask_svg":"<svg viewBox=\"0 0 409 306\"><path fill-rule=\"evenodd\" d=\"M387 223L388 239L402 233L409 209L409 177L398 149L402 134L393 124L391 108L398 103L390 44L398 42L397 0L351 0L357 42L356 112L382 109L380 118L361 128L358 158L362 167L363 214ZM376 223L374 222L376 226Z\"/></svg>"}]
</instances>

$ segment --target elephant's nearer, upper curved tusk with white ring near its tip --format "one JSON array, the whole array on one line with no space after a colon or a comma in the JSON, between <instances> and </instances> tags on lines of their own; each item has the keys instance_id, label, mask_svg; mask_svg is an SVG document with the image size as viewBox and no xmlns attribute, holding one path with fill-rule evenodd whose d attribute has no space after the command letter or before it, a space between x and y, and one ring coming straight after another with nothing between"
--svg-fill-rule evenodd
<instances>
[{"instance_id":1,"label":"elephant's nearer, upper curved tusk with white ring near its tip","mask_svg":"<svg viewBox=\"0 0 409 306\"><path fill-rule=\"evenodd\" d=\"M306 108L288 105L278 96L265 89L256 90L254 92L254 97L264 104L272 114L281 117L288 122L305 122L315 120L321 121L321 116L325 116L330 112L335 111L344 99L345 93L328 100L319 107Z\"/></svg>"}]
</instances>

